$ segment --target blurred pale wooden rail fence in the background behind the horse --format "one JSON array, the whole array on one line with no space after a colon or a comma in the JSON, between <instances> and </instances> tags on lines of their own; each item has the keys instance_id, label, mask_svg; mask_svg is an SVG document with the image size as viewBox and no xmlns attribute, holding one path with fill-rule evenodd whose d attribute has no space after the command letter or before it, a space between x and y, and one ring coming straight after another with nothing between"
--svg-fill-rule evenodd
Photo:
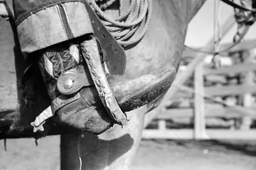
<instances>
[{"instance_id":1,"label":"blurred pale wooden rail fence in the background behind the horse","mask_svg":"<svg viewBox=\"0 0 256 170\"><path fill-rule=\"evenodd\" d=\"M232 17L225 22L223 36L234 23ZM212 38L205 50L212 50L213 42ZM248 50L229 52L232 61L238 55L242 62L219 70L207 68L205 54L196 53L163 102L146 116L143 139L256 139L256 54L246 57L244 51Z\"/></svg>"}]
</instances>

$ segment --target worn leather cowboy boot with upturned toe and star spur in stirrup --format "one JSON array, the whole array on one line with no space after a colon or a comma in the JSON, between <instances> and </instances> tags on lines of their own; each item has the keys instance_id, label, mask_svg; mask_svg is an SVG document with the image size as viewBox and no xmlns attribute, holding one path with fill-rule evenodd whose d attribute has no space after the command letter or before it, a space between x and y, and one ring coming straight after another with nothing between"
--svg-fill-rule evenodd
<instances>
[{"instance_id":1,"label":"worn leather cowboy boot with upturned toe and star spur in stirrup","mask_svg":"<svg viewBox=\"0 0 256 170\"><path fill-rule=\"evenodd\" d=\"M45 109L43 112L45 117L38 116L31 124L34 127L37 125L35 130L44 130L40 123L56 114L58 121L70 127L101 134L115 123L125 125L127 121L125 111L148 104L172 84L176 73L174 68L163 68L157 70L155 74L143 75L137 79L111 75L103 69L104 72L102 70L102 75L98 77L106 77L106 82L100 80L100 84L97 84L93 81L90 67L105 66L100 60L102 56L99 48L97 40L89 37L76 43L54 45L40 54L38 63L53 102L51 109ZM94 63L90 66L86 58L94 58L101 65ZM72 89L72 86L75 88ZM114 112L108 111L111 108L104 105L104 98L102 100L102 94L97 89L99 86L103 86L102 91L109 87L114 97L112 100L116 100L118 107L115 107ZM113 104L110 107L113 107Z\"/></svg>"}]
</instances>

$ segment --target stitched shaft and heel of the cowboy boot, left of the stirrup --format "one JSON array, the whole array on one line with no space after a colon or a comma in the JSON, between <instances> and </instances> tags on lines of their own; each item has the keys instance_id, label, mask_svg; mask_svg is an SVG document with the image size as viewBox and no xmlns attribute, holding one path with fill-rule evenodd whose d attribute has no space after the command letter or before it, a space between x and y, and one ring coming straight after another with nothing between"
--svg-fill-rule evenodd
<instances>
[{"instance_id":1,"label":"stitched shaft and heel of the cowboy boot, left of the stirrup","mask_svg":"<svg viewBox=\"0 0 256 170\"><path fill-rule=\"evenodd\" d=\"M52 105L56 102L56 98L63 100L63 98L76 97L74 94L61 95L57 88L57 82L63 73L74 68L81 67L80 69L86 70L85 72L90 76L87 66L81 65L84 60L81 58L79 45L76 42L59 43L36 52L36 55L39 56L38 66L44 78L48 95L53 101ZM93 82L91 79L89 79L89 81L90 84L88 84L88 88L81 89L79 92L83 93L83 96L75 102L70 102L67 107L60 108L57 112L60 119L57 117L54 120L61 121L64 124L79 128L83 131L99 134L111 127L114 121L104 113L102 104L98 102L97 105L94 105L98 100L97 93L92 93L91 85L93 85ZM49 108L43 112L44 119L49 118L49 116L47 117L47 114L49 114L47 111L49 111ZM88 114L84 114L85 112ZM70 123L70 121L72 123ZM38 128L42 128L42 126ZM44 128L41 130L44 130Z\"/></svg>"}]
</instances>

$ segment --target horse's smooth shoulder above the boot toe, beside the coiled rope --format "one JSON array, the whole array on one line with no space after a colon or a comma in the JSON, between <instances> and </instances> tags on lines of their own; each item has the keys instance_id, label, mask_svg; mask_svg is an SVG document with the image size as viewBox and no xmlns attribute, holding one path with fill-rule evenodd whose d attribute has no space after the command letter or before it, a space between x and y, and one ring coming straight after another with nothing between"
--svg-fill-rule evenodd
<instances>
[{"instance_id":1,"label":"horse's smooth shoulder above the boot toe, beside the coiled rope","mask_svg":"<svg viewBox=\"0 0 256 170\"><path fill-rule=\"evenodd\" d=\"M196 4L203 1L153 1L153 12L147 35L138 45L126 50L129 77L140 76L166 67L179 67L184 40Z\"/></svg>"}]
</instances>

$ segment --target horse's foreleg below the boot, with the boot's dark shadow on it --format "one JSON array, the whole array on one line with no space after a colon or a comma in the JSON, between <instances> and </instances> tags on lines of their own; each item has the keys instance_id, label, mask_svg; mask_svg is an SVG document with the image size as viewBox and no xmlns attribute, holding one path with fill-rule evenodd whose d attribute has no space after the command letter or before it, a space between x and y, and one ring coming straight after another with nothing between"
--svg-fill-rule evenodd
<instances>
[{"instance_id":1,"label":"horse's foreleg below the boot, with the boot's dark shadow on it","mask_svg":"<svg viewBox=\"0 0 256 170\"><path fill-rule=\"evenodd\" d=\"M61 169L129 169L140 145L146 109L127 112L124 128L114 125L100 135L61 135Z\"/></svg>"}]
</instances>

